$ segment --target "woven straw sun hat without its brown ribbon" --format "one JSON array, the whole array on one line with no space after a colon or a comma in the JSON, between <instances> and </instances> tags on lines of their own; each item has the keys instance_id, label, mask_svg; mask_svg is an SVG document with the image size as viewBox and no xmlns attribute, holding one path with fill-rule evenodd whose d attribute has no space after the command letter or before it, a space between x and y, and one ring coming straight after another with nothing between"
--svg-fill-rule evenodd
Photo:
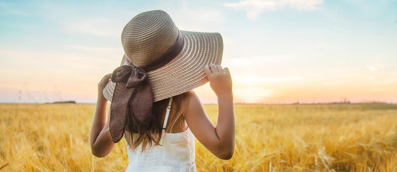
<instances>
[{"instance_id":1,"label":"woven straw sun hat without its brown ribbon","mask_svg":"<svg viewBox=\"0 0 397 172\"><path fill-rule=\"evenodd\" d=\"M147 72L154 102L184 93L208 82L204 65L221 64L223 40L220 33L178 30L170 16L161 10L135 16L124 27L121 65L146 65L161 57L175 43L179 32L184 45L179 54L164 66ZM103 94L112 101L115 83L110 81Z\"/></svg>"}]
</instances>

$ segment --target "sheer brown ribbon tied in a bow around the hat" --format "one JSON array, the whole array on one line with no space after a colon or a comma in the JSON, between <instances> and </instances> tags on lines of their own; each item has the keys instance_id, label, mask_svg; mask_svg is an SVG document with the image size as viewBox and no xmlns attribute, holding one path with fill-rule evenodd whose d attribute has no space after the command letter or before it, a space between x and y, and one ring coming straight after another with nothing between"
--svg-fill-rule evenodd
<instances>
[{"instance_id":1,"label":"sheer brown ribbon tied in a bow around the hat","mask_svg":"<svg viewBox=\"0 0 397 172\"><path fill-rule=\"evenodd\" d=\"M120 141L124 134L126 115L134 115L143 125L148 125L154 117L153 91L147 73L158 69L175 58L184 45L184 39L179 32L175 43L161 57L143 66L128 65L117 67L112 73L114 88L109 129L114 143Z\"/></svg>"}]
</instances>

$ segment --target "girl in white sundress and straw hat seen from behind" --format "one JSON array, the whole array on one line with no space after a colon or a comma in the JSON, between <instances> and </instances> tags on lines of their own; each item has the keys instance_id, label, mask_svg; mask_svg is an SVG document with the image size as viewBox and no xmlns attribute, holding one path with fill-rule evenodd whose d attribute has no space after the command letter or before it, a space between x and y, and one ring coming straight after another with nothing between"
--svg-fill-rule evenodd
<instances>
[{"instance_id":1,"label":"girl in white sundress and straw hat seen from behind","mask_svg":"<svg viewBox=\"0 0 397 172\"><path fill-rule=\"evenodd\" d=\"M98 84L92 154L107 156L124 136L126 171L190 172L196 171L196 137L218 158L230 159L233 93L229 70L220 65L221 35L178 30L166 12L155 10L135 16L121 39L122 65ZM192 90L208 81L218 97L216 126Z\"/></svg>"}]
</instances>

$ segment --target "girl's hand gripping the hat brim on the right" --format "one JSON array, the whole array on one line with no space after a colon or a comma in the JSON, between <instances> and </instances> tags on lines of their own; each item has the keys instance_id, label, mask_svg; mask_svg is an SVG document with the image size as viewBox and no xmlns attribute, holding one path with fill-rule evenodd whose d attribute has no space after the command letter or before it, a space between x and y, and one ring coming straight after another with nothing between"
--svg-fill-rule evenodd
<instances>
[{"instance_id":1,"label":"girl's hand gripping the hat brim on the right","mask_svg":"<svg viewBox=\"0 0 397 172\"><path fill-rule=\"evenodd\" d=\"M209 85L218 97L232 93L231 76L227 67L222 68L221 65L213 63L206 64L204 72L207 75Z\"/></svg>"}]
</instances>

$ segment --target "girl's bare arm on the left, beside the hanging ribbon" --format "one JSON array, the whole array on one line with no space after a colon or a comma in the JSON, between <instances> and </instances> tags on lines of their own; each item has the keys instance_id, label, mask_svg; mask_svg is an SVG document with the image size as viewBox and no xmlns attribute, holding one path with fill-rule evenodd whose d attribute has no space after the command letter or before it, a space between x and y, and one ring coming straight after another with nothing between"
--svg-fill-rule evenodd
<instances>
[{"instance_id":1,"label":"girl's bare arm on the left, beside the hanging ribbon","mask_svg":"<svg viewBox=\"0 0 397 172\"><path fill-rule=\"evenodd\" d=\"M114 146L109 132L109 120L107 121L106 119L106 105L108 100L106 100L102 93L111 75L105 75L98 84L98 99L90 134L91 152L96 157L105 157Z\"/></svg>"}]
</instances>

